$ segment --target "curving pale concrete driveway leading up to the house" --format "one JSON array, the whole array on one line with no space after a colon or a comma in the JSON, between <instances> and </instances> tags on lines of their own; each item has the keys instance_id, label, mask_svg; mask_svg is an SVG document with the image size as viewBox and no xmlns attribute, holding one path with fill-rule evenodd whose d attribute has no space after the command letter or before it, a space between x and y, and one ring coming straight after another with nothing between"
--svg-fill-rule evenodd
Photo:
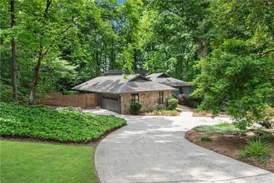
<instances>
[{"instance_id":1,"label":"curving pale concrete driveway leading up to the house","mask_svg":"<svg viewBox=\"0 0 274 183\"><path fill-rule=\"evenodd\" d=\"M112 114L110 111L86 112ZM222 156L184 138L197 125L228 118L118 115L128 125L100 141L95 166L100 182L274 182L274 174Z\"/></svg>"}]
</instances>

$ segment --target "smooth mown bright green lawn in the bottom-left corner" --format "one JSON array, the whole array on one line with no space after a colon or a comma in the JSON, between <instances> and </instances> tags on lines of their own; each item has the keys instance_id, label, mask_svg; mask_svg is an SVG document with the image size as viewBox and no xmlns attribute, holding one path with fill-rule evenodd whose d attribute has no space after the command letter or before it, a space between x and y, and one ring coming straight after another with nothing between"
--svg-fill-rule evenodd
<instances>
[{"instance_id":1,"label":"smooth mown bright green lawn in the bottom-left corner","mask_svg":"<svg viewBox=\"0 0 274 183\"><path fill-rule=\"evenodd\" d=\"M1 140L0 182L98 182L93 147Z\"/></svg>"}]
</instances>

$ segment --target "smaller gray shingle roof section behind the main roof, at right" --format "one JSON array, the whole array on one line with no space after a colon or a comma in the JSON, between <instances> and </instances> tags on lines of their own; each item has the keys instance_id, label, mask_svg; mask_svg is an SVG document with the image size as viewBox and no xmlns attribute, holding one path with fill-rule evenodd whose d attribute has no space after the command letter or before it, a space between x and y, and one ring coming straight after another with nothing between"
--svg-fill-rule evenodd
<instances>
[{"instance_id":1,"label":"smaller gray shingle roof section behind the main roof, at right","mask_svg":"<svg viewBox=\"0 0 274 183\"><path fill-rule=\"evenodd\" d=\"M154 82L166 84L170 87L191 86L191 84L188 82L177 80L176 78L169 77L168 75L166 75L164 73L154 73L154 74L148 75L147 77L150 78L150 80L152 80Z\"/></svg>"}]
</instances>

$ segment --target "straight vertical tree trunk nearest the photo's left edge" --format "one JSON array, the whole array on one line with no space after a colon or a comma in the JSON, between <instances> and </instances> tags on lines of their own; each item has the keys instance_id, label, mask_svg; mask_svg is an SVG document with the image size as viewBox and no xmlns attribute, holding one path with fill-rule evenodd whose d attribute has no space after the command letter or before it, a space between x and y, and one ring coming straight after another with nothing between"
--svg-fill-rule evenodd
<instances>
[{"instance_id":1,"label":"straight vertical tree trunk nearest the photo's left edge","mask_svg":"<svg viewBox=\"0 0 274 183\"><path fill-rule=\"evenodd\" d=\"M10 1L11 4L11 27L15 25L15 13L14 13L14 0ZM18 101L18 87L17 87L17 62L16 62L16 45L15 39L11 39L11 72L13 79L13 99Z\"/></svg>"}]
</instances>

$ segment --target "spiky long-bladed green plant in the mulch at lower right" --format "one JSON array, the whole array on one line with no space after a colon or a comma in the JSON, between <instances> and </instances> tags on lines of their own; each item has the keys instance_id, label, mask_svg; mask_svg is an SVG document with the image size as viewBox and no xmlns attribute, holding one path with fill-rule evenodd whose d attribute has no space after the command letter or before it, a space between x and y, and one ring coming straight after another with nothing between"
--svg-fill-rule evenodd
<instances>
[{"instance_id":1,"label":"spiky long-bladed green plant in the mulch at lower right","mask_svg":"<svg viewBox=\"0 0 274 183\"><path fill-rule=\"evenodd\" d=\"M261 141L260 138L247 139L247 146L244 147L244 151L240 153L240 158L253 157L256 160L266 161L270 158L269 145L266 141Z\"/></svg>"}]
</instances>

